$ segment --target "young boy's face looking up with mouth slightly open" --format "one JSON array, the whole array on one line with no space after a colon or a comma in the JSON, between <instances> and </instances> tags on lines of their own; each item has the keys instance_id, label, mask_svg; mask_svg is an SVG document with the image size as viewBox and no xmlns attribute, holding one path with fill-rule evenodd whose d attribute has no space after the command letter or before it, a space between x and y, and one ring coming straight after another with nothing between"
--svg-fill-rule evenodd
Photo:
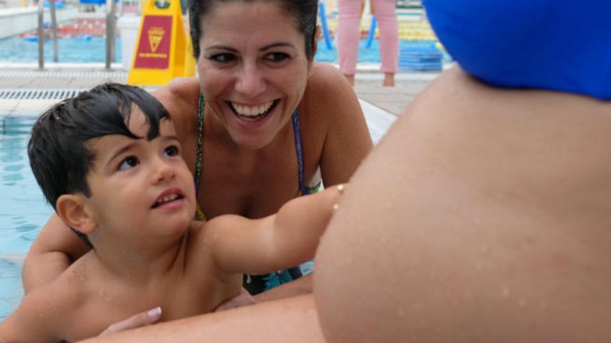
<instances>
[{"instance_id":1,"label":"young boy's face looking up with mouth slightly open","mask_svg":"<svg viewBox=\"0 0 611 343\"><path fill-rule=\"evenodd\" d=\"M149 132L137 107L128 128L138 137ZM195 213L195 190L169 119L160 121L159 135L151 141L111 134L88 141L87 147L95 159L87 175L91 196L86 201L99 227L140 243L184 233Z\"/></svg>"}]
</instances>

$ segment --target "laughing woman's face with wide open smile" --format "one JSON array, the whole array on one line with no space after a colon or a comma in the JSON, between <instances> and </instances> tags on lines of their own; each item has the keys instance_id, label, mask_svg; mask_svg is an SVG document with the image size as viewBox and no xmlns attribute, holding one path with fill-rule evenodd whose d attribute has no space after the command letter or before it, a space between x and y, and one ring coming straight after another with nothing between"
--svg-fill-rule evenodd
<instances>
[{"instance_id":1,"label":"laughing woman's face with wide open smile","mask_svg":"<svg viewBox=\"0 0 611 343\"><path fill-rule=\"evenodd\" d=\"M238 145L267 146L290 121L310 75L294 17L277 1L231 1L208 12L202 28L206 107Z\"/></svg>"}]
</instances>

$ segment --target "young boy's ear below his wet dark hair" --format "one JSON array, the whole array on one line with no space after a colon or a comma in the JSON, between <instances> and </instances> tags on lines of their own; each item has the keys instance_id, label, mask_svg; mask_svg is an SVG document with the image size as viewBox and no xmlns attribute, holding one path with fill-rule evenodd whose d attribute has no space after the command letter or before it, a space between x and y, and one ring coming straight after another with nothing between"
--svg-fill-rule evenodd
<instances>
[{"instance_id":1,"label":"young boy's ear below his wet dark hair","mask_svg":"<svg viewBox=\"0 0 611 343\"><path fill-rule=\"evenodd\" d=\"M81 194L64 194L56 202L58 216L76 231L91 234L97 228L93 209Z\"/></svg>"}]
</instances>

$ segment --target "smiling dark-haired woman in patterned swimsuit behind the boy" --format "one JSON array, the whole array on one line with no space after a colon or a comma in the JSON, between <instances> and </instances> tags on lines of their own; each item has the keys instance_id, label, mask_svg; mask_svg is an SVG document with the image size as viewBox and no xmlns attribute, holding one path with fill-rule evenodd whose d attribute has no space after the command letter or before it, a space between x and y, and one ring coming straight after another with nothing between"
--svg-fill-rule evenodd
<instances>
[{"instance_id":1,"label":"smiling dark-haired woman in patterned swimsuit behind the boy","mask_svg":"<svg viewBox=\"0 0 611 343\"><path fill-rule=\"evenodd\" d=\"M194 173L199 218L268 216L320 182L347 182L371 150L351 86L334 67L313 62L316 17L316 0L190 3L200 78L153 95L171 114ZM26 258L26 291L86 251L51 218ZM244 286L257 294L300 274L248 276ZM308 292L310 282L304 277L258 299Z\"/></svg>"}]
</instances>

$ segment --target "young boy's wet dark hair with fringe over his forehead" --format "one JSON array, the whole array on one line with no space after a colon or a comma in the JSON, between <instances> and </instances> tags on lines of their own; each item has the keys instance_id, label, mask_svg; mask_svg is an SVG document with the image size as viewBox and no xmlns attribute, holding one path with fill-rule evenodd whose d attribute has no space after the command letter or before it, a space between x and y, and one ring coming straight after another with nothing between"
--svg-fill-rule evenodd
<instances>
[{"instance_id":1,"label":"young boy's wet dark hair with fringe over his forehead","mask_svg":"<svg viewBox=\"0 0 611 343\"><path fill-rule=\"evenodd\" d=\"M28 157L36 181L49 204L56 209L60 195L83 193L90 197L87 174L95 155L87 141L108 134L137 137L127 127L133 106L149 123L146 139L159 134L159 123L170 118L163 105L140 87L106 83L63 100L44 112L32 128ZM91 246L87 237L79 234Z\"/></svg>"}]
</instances>

